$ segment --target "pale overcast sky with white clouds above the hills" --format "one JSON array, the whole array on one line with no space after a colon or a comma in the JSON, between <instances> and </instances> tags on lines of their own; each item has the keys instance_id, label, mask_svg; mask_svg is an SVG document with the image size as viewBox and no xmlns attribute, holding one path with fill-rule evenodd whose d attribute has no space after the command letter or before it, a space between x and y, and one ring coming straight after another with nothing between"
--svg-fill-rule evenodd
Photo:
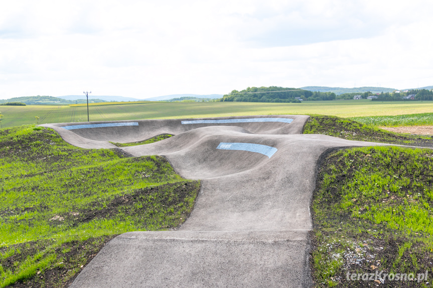
<instances>
[{"instance_id":1,"label":"pale overcast sky with white clouds above the hills","mask_svg":"<svg viewBox=\"0 0 433 288\"><path fill-rule=\"evenodd\" d=\"M0 99L433 85L431 0L0 1Z\"/></svg>"}]
</instances>

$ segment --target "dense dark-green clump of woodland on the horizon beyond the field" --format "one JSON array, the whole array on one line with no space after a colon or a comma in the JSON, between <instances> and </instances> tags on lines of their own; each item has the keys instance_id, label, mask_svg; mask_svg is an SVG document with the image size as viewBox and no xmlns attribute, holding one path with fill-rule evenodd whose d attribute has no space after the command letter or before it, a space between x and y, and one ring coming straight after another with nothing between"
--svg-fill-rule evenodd
<instances>
[{"instance_id":1,"label":"dense dark-green clump of woodland on the horizon beyond the field","mask_svg":"<svg viewBox=\"0 0 433 288\"><path fill-rule=\"evenodd\" d=\"M270 87L248 87L242 91L233 90L224 95L218 101L228 102L278 102L278 103L301 103L303 101L335 100L336 95L332 92L312 92L296 88Z\"/></svg>"}]
</instances>

